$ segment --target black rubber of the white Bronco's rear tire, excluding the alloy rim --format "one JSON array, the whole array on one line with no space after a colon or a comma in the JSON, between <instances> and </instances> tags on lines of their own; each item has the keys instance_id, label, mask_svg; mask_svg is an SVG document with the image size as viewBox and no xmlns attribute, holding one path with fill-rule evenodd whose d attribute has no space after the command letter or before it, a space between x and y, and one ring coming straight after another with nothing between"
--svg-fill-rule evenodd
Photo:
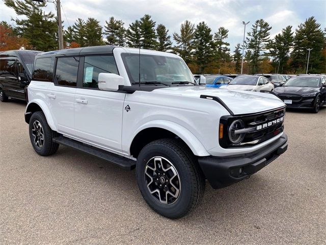
<instances>
[{"instance_id":1,"label":"black rubber of the white Bronco's rear tire, excluding the alloy rim","mask_svg":"<svg viewBox=\"0 0 326 245\"><path fill-rule=\"evenodd\" d=\"M42 145L37 145L37 143L34 140L33 137L34 122L36 124L40 124L42 127L42 134L44 138ZM30 125L29 125L29 133L30 133L31 143L37 154L41 156L49 156L57 152L59 148L59 144L53 142L52 139L54 137L57 137L58 133L51 130L51 128L47 124L46 117L42 111L37 111L32 114L30 119Z\"/></svg>"}]
</instances>

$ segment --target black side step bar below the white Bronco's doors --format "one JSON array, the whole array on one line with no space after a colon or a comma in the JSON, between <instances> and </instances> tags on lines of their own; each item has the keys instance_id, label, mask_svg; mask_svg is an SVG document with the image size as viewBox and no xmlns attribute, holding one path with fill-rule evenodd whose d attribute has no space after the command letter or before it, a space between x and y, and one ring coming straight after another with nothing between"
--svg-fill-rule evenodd
<instances>
[{"instance_id":1,"label":"black side step bar below the white Bronco's doors","mask_svg":"<svg viewBox=\"0 0 326 245\"><path fill-rule=\"evenodd\" d=\"M73 140L73 139L69 139L64 136L59 136L59 137L53 138L53 141L58 144L69 146L73 149L76 149L76 150L79 150L82 152L86 152L90 155L101 158L103 160L115 163L115 164L119 165L120 167L127 169L127 170L133 169L136 166L136 162L132 159L122 157L117 154L104 151L102 149L98 149L94 146L84 144L82 142L79 142L79 141Z\"/></svg>"}]
</instances>

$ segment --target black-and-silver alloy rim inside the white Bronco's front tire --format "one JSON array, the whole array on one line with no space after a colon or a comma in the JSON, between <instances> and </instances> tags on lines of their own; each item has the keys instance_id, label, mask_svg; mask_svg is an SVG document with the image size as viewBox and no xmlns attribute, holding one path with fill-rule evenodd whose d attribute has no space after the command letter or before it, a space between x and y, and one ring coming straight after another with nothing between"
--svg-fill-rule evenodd
<instances>
[{"instance_id":1,"label":"black-and-silver alloy rim inside the white Bronco's front tire","mask_svg":"<svg viewBox=\"0 0 326 245\"><path fill-rule=\"evenodd\" d=\"M163 204L177 201L181 183L177 169L164 157L153 157L145 166L145 181L151 195Z\"/></svg>"}]
</instances>

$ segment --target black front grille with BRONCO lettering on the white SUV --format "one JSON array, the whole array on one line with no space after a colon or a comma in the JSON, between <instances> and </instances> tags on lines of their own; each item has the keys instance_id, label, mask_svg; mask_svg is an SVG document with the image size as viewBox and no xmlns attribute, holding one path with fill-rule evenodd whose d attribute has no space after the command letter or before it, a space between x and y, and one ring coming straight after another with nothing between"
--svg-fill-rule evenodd
<instances>
[{"instance_id":1,"label":"black front grille with BRONCO lettering on the white SUV","mask_svg":"<svg viewBox=\"0 0 326 245\"><path fill-rule=\"evenodd\" d=\"M222 139L220 145L223 148L253 146L262 143L283 132L285 107L276 110L240 116L224 116L221 118L223 124L230 126L232 121L241 119L244 128L248 130L241 143L232 144L231 141ZM270 125L269 125L270 124ZM224 133L228 133L229 128L225 127Z\"/></svg>"}]
</instances>

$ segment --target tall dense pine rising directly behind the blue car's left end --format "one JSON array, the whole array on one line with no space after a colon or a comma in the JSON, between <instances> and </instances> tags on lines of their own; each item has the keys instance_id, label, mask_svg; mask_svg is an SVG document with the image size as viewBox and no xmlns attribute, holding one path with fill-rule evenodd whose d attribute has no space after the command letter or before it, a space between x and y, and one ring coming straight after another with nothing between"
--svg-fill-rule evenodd
<instances>
[{"instance_id":1,"label":"tall dense pine rising directly behind the blue car's left end","mask_svg":"<svg viewBox=\"0 0 326 245\"><path fill-rule=\"evenodd\" d=\"M211 61L213 52L213 35L204 21L200 22L196 27L194 47L196 63L200 66L200 72L203 74Z\"/></svg>"}]
</instances>

